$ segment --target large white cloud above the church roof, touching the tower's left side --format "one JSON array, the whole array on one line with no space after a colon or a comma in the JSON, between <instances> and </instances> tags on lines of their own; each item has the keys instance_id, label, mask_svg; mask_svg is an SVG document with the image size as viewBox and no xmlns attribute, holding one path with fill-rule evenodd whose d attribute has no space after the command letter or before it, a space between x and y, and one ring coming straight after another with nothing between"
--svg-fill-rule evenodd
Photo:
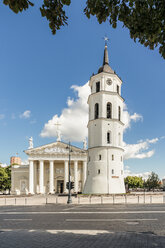
<instances>
[{"instance_id":1,"label":"large white cloud above the church roof, touching the tower's left side","mask_svg":"<svg viewBox=\"0 0 165 248\"><path fill-rule=\"evenodd\" d=\"M73 85L71 89L77 93L76 99L67 100L67 108L62 110L60 116L54 115L44 125L41 137L56 137L57 126L60 124L60 131L63 140L81 142L87 137L88 105L87 99L90 94L88 83L83 86Z\"/></svg>"}]
</instances>

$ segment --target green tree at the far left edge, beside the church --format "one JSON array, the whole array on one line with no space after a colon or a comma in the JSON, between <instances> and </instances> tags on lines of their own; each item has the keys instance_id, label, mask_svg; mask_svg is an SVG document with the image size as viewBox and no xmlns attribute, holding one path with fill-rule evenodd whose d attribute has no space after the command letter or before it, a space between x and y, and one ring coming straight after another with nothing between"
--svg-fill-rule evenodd
<instances>
[{"instance_id":1,"label":"green tree at the far left edge, beside the church","mask_svg":"<svg viewBox=\"0 0 165 248\"><path fill-rule=\"evenodd\" d=\"M0 167L0 191L11 189L11 167Z\"/></svg>"}]
</instances>

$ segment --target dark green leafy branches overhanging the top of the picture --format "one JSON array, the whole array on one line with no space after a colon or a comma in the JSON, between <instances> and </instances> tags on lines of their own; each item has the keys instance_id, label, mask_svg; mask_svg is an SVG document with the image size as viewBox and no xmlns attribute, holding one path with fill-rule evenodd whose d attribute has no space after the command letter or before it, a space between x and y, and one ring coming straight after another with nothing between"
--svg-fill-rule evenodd
<instances>
[{"instance_id":1,"label":"dark green leafy branches overhanging the top of the picture","mask_svg":"<svg viewBox=\"0 0 165 248\"><path fill-rule=\"evenodd\" d=\"M3 0L15 13L33 6L29 0ZM71 0L43 0L41 15L49 21L55 34L61 26L67 25L65 8ZM96 16L99 23L109 21L113 28L118 21L130 31L130 37L145 47L154 49L165 58L165 3L164 0L87 0L84 9L90 18Z\"/></svg>"}]
</instances>

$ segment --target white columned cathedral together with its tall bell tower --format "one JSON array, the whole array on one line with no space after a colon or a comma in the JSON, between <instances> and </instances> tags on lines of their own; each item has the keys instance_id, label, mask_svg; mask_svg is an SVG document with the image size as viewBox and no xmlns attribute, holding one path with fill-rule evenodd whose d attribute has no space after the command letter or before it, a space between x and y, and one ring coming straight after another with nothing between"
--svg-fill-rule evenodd
<instances>
[{"instance_id":1,"label":"white columned cathedral together with its tall bell tower","mask_svg":"<svg viewBox=\"0 0 165 248\"><path fill-rule=\"evenodd\" d=\"M103 66L90 78L88 150L71 146L72 192L125 193L123 173L123 98L121 79L109 66L105 45ZM13 165L12 194L68 193L69 153L66 143L33 148L29 139L28 165Z\"/></svg>"}]
</instances>

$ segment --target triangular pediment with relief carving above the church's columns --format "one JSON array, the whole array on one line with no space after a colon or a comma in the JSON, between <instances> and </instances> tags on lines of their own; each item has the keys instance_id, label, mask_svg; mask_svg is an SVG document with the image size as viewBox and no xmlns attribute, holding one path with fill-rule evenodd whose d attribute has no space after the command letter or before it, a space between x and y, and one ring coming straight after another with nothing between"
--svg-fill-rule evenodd
<instances>
[{"instance_id":1,"label":"triangular pediment with relief carving above the church's columns","mask_svg":"<svg viewBox=\"0 0 165 248\"><path fill-rule=\"evenodd\" d=\"M84 153L86 150L78 148L76 146L70 146L73 153ZM47 145L31 148L25 151L27 155L30 154L67 154L69 153L68 144L57 141Z\"/></svg>"}]
</instances>

